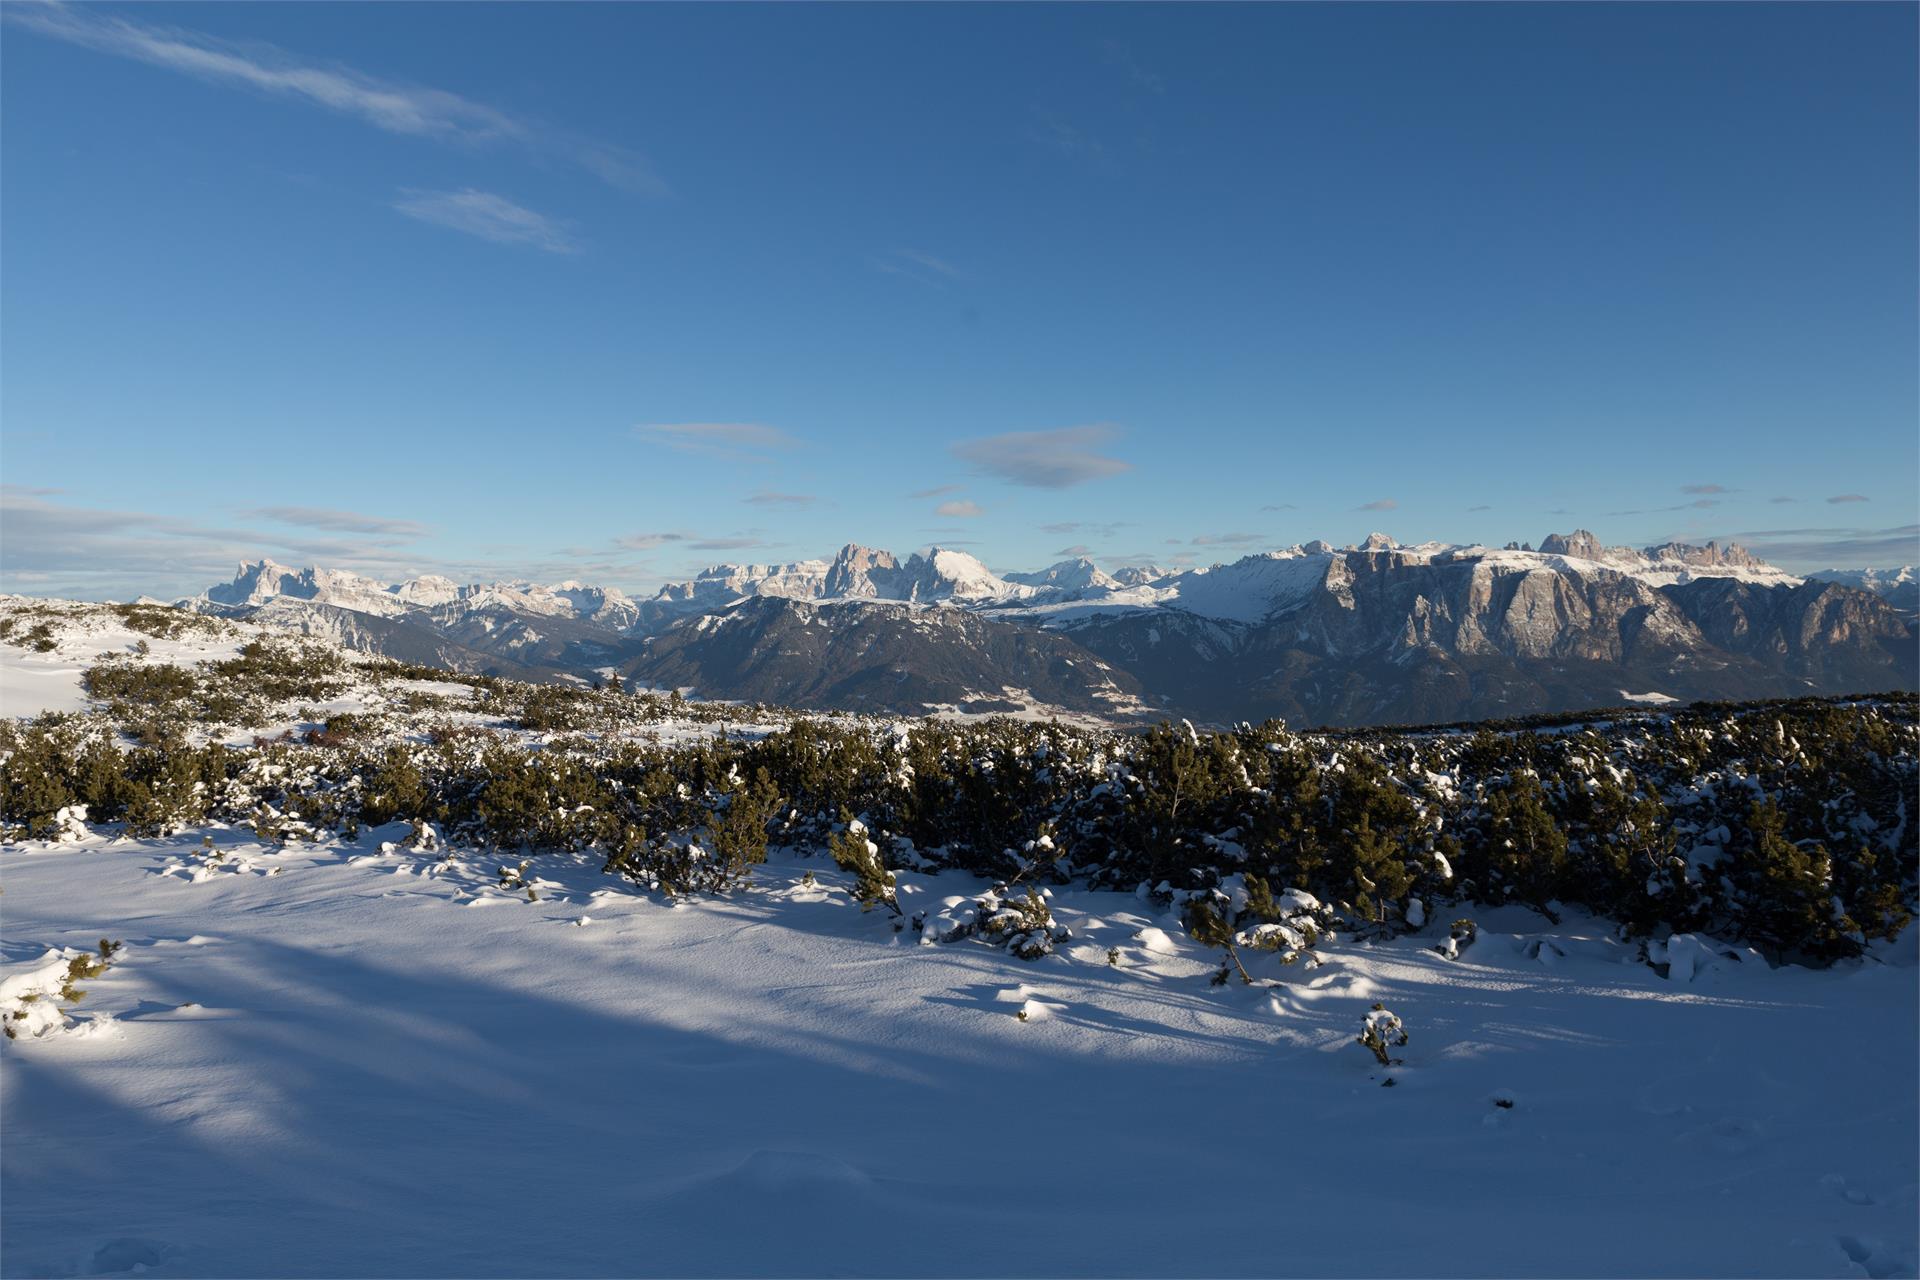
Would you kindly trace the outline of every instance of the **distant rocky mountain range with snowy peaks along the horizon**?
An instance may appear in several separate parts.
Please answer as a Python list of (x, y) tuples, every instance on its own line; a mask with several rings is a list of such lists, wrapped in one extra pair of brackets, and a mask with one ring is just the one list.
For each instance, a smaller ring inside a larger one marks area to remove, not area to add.
[(259, 560), (182, 604), (355, 629), (361, 645), (459, 670), (612, 670), (716, 699), (1411, 723), (1910, 689), (1920, 658), (1901, 589), (1910, 572), (1799, 578), (1738, 545), (1605, 547), (1574, 530), (1538, 549), (1373, 533), (1117, 574), (1087, 558), (995, 574), (964, 551), (902, 560), (849, 543), (820, 560), (718, 564), (643, 599)]

